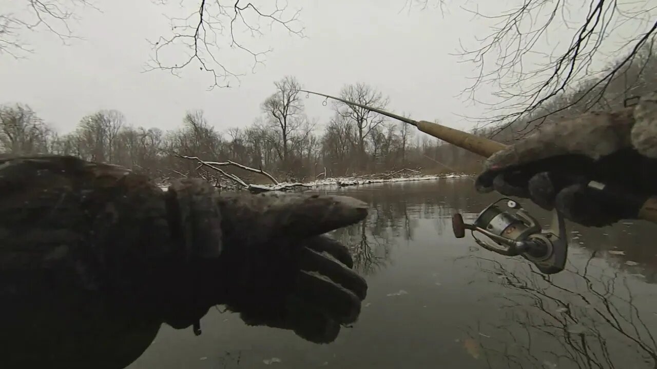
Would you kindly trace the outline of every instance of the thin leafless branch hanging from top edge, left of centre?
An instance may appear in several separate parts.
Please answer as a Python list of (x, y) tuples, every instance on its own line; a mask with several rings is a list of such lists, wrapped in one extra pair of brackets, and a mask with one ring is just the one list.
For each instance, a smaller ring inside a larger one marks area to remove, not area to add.
[[(160, 0), (168, 3), (168, 0)], [(220, 60), (219, 54), (225, 54), (227, 49), (238, 49), (248, 54), (252, 60), (251, 72), (255, 72), (258, 64), (263, 64), (265, 55), (271, 49), (254, 51), (239, 39), (238, 33), (247, 32), (251, 37), (260, 37), (261, 22), (268, 22), (270, 30), (273, 26), (283, 28), (288, 33), (305, 37), (304, 28), (299, 26), (298, 16), (300, 9), (288, 15), (288, 5), (281, 5), (281, 1), (267, 1), (267, 5), (256, 6), (252, 2), (244, 3), (237, 0), (231, 5), (221, 0), (200, 0), (198, 8), (184, 18), (170, 18), (172, 35), (160, 36), (156, 41), (150, 41), (153, 47), (153, 56), (145, 72), (152, 70), (167, 70), (174, 76), (191, 64), (199, 66), (200, 70), (208, 72), (213, 79), (210, 89), (215, 87), (230, 87), (231, 81), (240, 82), (244, 73), (238, 73)], [(263, 9), (269, 9), (265, 11)], [(241, 29), (240, 29), (241, 28)], [(223, 35), (227, 35), (229, 42), (219, 46)], [(181, 49), (178, 49), (181, 48)], [(179, 51), (187, 54), (178, 60)], [(173, 60), (167, 53), (173, 54)]]

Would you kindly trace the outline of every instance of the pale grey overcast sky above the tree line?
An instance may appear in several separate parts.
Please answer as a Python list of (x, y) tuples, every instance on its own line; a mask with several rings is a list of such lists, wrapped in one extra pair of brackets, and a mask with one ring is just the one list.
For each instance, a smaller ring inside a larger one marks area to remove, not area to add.
[[(24, 9), (17, 7), (24, 3), (0, 0), (0, 9)], [(82, 116), (99, 109), (117, 109), (132, 125), (164, 130), (179, 127), (186, 110), (202, 109), (210, 123), (223, 130), (252, 123), (260, 115), (260, 103), (274, 92), (273, 82), (292, 75), (304, 87), (329, 95), (337, 95), (346, 83), (369, 83), (390, 97), (390, 110), (415, 119), (440, 119), (451, 127), (471, 125), (456, 114), (480, 112), (457, 96), (472, 83), (467, 77), (474, 66), (459, 64), (459, 58), (450, 55), (458, 51), (459, 39), (473, 45), (476, 35), (489, 33), (486, 24), (459, 9), (463, 3), (472, 8), (476, 1), (448, 2), (443, 14), (436, 8), (409, 11), (405, 0), (290, 0), (290, 9), (303, 5), (300, 19), (307, 38), (280, 29), (263, 39), (240, 36), (254, 50), (274, 50), (256, 74), (241, 77), (240, 85), (214, 91), (207, 91), (211, 76), (198, 66), (187, 68), (182, 77), (141, 73), (151, 53), (147, 39), (171, 34), (164, 14), (187, 16), (193, 11), (173, 3), (176, 6), (163, 7), (152, 0), (97, 0), (102, 13), (78, 13), (81, 20), (72, 28), (85, 40), (70, 46), (48, 32), (25, 34), (35, 49), (28, 60), (0, 56), (0, 103), (30, 104), (59, 131), (70, 131)], [(478, 3), (487, 4), (480, 9), (489, 13), (503, 10), (493, 4), (496, 1)], [(217, 55), (237, 66), (237, 72), (250, 71), (247, 54)], [(330, 116), (330, 105), (322, 106), (322, 98), (304, 101), (309, 116), (320, 123)]]

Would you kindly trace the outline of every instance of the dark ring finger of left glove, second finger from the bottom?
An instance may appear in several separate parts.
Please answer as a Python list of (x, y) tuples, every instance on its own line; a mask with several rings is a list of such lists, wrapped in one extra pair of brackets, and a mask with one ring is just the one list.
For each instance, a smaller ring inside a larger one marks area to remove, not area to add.
[(357, 295), (317, 272), (299, 273), (295, 295), (341, 324), (355, 322), (361, 313)]

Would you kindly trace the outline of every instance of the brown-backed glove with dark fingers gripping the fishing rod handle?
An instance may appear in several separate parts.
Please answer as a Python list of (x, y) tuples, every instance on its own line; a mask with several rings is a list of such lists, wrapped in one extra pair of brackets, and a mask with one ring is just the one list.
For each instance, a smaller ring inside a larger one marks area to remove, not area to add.
[[(589, 181), (618, 196), (589, 188)], [(657, 194), (657, 93), (633, 108), (541, 127), (488, 158), (476, 188), (556, 207), (587, 227), (635, 219), (643, 200)]]

